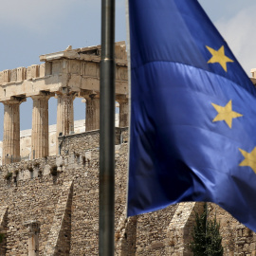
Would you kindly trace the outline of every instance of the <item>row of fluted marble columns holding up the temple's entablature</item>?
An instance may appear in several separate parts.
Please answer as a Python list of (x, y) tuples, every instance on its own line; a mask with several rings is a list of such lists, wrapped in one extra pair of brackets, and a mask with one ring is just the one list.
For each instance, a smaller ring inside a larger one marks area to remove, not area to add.
[[(33, 158), (41, 158), (49, 154), (48, 148), (48, 100), (50, 93), (42, 92), (40, 95), (32, 96), (32, 134), (31, 152)], [(74, 131), (74, 93), (59, 94), (57, 106), (56, 137), (60, 134), (69, 135)], [(100, 96), (92, 93), (84, 96), (86, 100), (86, 131), (100, 129)], [(4, 103), (4, 137), (3, 137), (3, 164), (17, 162), (20, 160), (20, 104), (26, 98), (13, 98)], [(117, 98), (119, 102), (119, 127), (128, 126), (128, 100)], [(58, 154), (58, 143), (56, 143)]]

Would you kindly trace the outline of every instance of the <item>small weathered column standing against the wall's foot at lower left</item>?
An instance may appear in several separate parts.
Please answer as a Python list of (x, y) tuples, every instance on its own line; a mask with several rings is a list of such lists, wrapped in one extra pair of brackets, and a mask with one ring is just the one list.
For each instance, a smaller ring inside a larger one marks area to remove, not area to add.
[(39, 255), (39, 233), (40, 233), (40, 222), (39, 221), (28, 221), (24, 224), (28, 229), (28, 256)]

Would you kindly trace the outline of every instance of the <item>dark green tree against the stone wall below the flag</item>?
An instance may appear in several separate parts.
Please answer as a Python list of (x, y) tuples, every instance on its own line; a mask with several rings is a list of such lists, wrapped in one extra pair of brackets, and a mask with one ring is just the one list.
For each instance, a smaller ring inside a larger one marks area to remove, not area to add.
[(221, 241), (220, 224), (217, 223), (216, 216), (213, 220), (208, 220), (207, 204), (205, 204), (202, 214), (195, 213), (195, 225), (190, 244), (193, 255), (222, 256)]

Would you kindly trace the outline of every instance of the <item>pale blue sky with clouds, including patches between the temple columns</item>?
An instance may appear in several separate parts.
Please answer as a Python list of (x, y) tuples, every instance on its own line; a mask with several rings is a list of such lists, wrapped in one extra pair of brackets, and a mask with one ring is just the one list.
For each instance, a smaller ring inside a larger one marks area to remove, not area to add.
[[(247, 75), (256, 67), (255, 0), (199, 0), (228, 42)], [(101, 0), (1, 1), (0, 70), (40, 64), (39, 56), (101, 45)], [(125, 0), (116, 0), (116, 42), (126, 41)], [(49, 100), (49, 124), (56, 123), (57, 100)], [(0, 103), (0, 140), (4, 106)], [(31, 128), (32, 101), (20, 107), (21, 130)], [(84, 119), (85, 105), (74, 101), (75, 119)]]

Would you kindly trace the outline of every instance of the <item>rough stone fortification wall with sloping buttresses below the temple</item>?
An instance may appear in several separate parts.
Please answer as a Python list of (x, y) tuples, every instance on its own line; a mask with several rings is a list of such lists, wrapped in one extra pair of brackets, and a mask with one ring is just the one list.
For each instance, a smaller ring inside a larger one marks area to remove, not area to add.
[[(192, 255), (194, 212), (201, 203), (126, 218), (127, 128), (116, 128), (116, 255)], [(27, 255), (40, 222), (39, 255), (98, 255), (99, 131), (59, 137), (61, 155), (0, 169), (1, 255)], [(10, 173), (12, 176), (10, 176)], [(221, 224), (224, 255), (255, 255), (255, 234), (225, 210), (209, 204)]]

